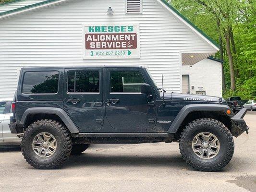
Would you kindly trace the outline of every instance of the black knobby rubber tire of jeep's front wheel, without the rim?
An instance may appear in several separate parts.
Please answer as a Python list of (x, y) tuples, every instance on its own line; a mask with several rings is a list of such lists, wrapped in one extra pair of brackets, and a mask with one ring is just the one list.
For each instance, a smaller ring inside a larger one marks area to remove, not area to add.
[[(219, 153), (211, 159), (196, 156), (192, 149), (192, 141), (200, 132), (210, 132), (219, 140)], [(180, 135), (179, 146), (185, 162), (199, 171), (218, 171), (224, 168), (234, 153), (234, 141), (230, 130), (218, 120), (207, 118), (190, 122)]]

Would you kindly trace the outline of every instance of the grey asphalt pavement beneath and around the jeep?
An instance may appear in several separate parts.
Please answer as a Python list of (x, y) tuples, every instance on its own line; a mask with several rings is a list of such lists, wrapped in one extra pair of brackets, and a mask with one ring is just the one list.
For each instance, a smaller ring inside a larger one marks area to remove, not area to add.
[(0, 192), (256, 192), (256, 111), (249, 134), (219, 172), (200, 172), (182, 159), (178, 143), (94, 144), (62, 168), (37, 170), (18, 148), (0, 148)]

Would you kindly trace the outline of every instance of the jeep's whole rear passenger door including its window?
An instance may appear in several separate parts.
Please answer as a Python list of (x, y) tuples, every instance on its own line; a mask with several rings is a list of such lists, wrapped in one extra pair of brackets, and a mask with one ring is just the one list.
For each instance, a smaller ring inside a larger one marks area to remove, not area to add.
[(103, 126), (101, 68), (65, 70), (63, 105), (80, 132), (93, 132)]

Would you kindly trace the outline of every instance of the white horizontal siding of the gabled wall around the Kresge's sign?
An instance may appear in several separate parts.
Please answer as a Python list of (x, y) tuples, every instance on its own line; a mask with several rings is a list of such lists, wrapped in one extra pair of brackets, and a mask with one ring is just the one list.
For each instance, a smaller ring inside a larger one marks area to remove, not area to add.
[[(107, 15), (110, 7), (113, 16)], [(83, 60), (82, 24), (140, 23), (140, 59)], [(156, 0), (143, 14), (125, 14), (125, 0), (72, 0), (0, 20), (0, 97), (16, 89), (17, 69), (29, 66), (143, 65), (167, 91), (181, 92), (180, 51), (216, 52)]]

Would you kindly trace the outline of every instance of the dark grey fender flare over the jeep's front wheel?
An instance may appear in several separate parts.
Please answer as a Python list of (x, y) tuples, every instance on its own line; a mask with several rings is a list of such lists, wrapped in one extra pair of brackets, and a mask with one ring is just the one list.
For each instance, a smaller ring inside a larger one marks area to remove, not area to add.
[[(183, 120), (187, 117), (187, 115), (193, 111), (218, 111), (224, 112), (227, 114), (227, 110), (231, 110), (231, 108), (227, 105), (219, 105), (219, 104), (190, 104), (184, 106), (176, 118), (172, 121), (171, 126), (168, 129), (168, 133), (176, 133), (180, 128)], [(231, 110), (232, 111), (232, 110)], [(231, 113), (227, 116), (233, 116)]]

